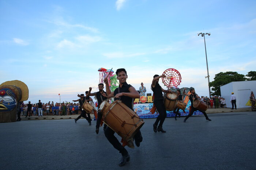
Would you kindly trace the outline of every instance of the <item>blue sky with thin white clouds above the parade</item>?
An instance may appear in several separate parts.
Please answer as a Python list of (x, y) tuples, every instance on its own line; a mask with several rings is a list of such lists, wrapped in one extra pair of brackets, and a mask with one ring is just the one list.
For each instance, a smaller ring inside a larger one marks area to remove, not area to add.
[[(1, 0), (0, 83), (25, 82), (29, 101), (78, 99), (96, 92), (98, 68), (127, 70), (147, 93), (155, 74), (174, 68), (178, 88), (208, 96), (219, 72), (247, 74), (256, 65), (256, 1)], [(160, 80), (160, 85), (163, 86)]]

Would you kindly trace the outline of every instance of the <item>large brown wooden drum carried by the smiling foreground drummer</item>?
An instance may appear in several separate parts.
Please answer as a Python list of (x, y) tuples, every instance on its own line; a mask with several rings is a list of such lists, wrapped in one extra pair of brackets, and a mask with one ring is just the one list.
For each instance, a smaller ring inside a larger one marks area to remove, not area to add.
[(127, 142), (133, 140), (133, 136), (144, 124), (144, 121), (120, 100), (114, 101), (106, 110), (102, 116), (104, 123)]

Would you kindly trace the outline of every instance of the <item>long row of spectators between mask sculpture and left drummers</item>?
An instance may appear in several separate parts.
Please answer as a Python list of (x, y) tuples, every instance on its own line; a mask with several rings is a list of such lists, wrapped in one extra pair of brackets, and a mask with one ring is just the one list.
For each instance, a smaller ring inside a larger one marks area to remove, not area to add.
[[(39, 106), (39, 107), (38, 107)], [(40, 108), (42, 107), (42, 108)], [(42, 110), (42, 114), (40, 113)], [(20, 115), (21, 116), (64, 116), (64, 115), (77, 115), (80, 113), (80, 105), (79, 103), (36, 103), (28, 104), (22, 103), (20, 105)]]

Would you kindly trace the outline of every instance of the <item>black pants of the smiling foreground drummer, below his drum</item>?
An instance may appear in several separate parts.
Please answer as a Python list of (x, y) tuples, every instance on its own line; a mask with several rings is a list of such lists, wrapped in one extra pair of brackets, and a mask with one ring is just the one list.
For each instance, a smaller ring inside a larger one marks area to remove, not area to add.
[[(122, 146), (122, 144), (118, 141), (116, 136), (114, 136), (114, 131), (107, 127), (105, 130), (105, 136), (108, 139), (108, 141), (113, 145), (114, 148), (116, 148), (119, 153), (121, 153), (123, 156), (128, 154), (128, 151)], [(134, 140), (139, 140), (141, 136), (140, 130), (134, 135)]]

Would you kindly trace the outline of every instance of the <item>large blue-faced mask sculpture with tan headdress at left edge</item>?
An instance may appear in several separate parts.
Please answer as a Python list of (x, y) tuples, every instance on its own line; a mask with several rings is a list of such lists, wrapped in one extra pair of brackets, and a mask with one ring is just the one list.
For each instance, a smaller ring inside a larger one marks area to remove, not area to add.
[(0, 85), (0, 123), (16, 121), (20, 102), (29, 98), (29, 89), (22, 81), (7, 81)]

